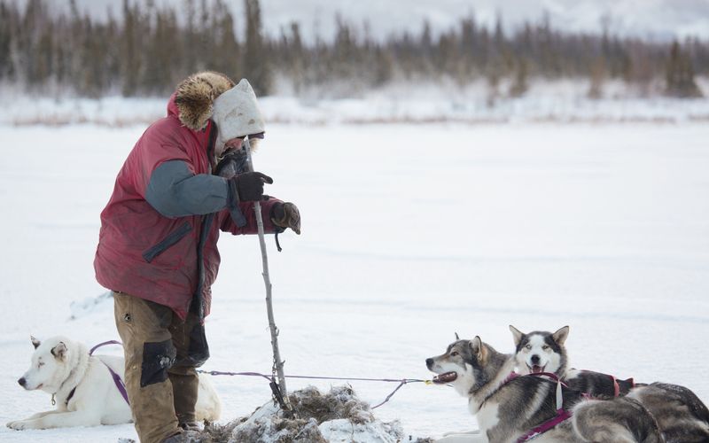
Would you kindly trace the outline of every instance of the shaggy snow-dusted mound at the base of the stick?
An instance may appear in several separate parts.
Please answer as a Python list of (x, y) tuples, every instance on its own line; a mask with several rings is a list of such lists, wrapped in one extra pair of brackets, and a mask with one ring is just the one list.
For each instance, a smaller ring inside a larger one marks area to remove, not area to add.
[(350, 386), (334, 386), (322, 393), (313, 386), (292, 392), (294, 417), (284, 416), (273, 402), (252, 416), (226, 425), (208, 425), (203, 443), (397, 443), (404, 440), (398, 421), (383, 423), (359, 400)]

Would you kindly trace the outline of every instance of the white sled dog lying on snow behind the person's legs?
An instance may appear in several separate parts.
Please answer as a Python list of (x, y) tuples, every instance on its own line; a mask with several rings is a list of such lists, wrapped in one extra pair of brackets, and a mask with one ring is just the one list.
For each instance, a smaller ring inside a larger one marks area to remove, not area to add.
[[(27, 391), (51, 393), (57, 408), (10, 422), (7, 427), (23, 430), (130, 423), (130, 407), (108, 369), (122, 380), (123, 357), (90, 355), (87, 346), (61, 336), (41, 343), (33, 337), (32, 344), (32, 366), (18, 383)], [(200, 375), (197, 419), (215, 421), (221, 411), (214, 387)]]

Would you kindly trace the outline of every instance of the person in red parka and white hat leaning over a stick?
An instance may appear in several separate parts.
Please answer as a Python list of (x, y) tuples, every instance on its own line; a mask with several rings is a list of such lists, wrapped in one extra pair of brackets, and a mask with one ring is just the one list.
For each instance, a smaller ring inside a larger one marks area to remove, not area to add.
[(256, 233), (253, 201), (261, 200), (267, 233), (300, 234), (298, 208), (263, 195), (269, 176), (214, 174), (224, 154), (263, 132), (247, 81), (191, 75), (170, 97), (168, 116), (129, 153), (101, 213), (94, 268), (113, 291), (126, 389), (144, 443), (189, 441), (196, 428), (196, 368), (209, 357), (204, 317), (220, 230)]

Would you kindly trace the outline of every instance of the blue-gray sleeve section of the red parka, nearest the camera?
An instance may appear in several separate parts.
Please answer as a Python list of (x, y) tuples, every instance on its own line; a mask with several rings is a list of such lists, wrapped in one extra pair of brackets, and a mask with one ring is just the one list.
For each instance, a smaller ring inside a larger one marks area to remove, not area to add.
[(228, 187), (222, 177), (194, 175), (183, 160), (169, 160), (152, 171), (145, 199), (170, 218), (211, 214), (227, 206)]

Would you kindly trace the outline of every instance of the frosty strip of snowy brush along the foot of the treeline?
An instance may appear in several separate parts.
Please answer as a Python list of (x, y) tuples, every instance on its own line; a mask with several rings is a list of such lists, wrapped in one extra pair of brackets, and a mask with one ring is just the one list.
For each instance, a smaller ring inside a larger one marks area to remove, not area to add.
[[(709, 78), (698, 77), (700, 89), (709, 94)], [(367, 89), (356, 82), (317, 85), (296, 93), (280, 81), (277, 94), (261, 97), (261, 110), (271, 122), (296, 125), (383, 124), (456, 122), (650, 122), (709, 121), (709, 100), (662, 97), (664, 83), (648, 85), (651, 97), (624, 82), (604, 82), (599, 99), (588, 98), (588, 82), (535, 80), (524, 97), (510, 98), (510, 80), (493, 94), (484, 80), (459, 86), (452, 82), (392, 82)], [(165, 114), (166, 99), (101, 99), (28, 97), (10, 85), (0, 85), (0, 124), (62, 126), (95, 123), (123, 128), (147, 125)]]

